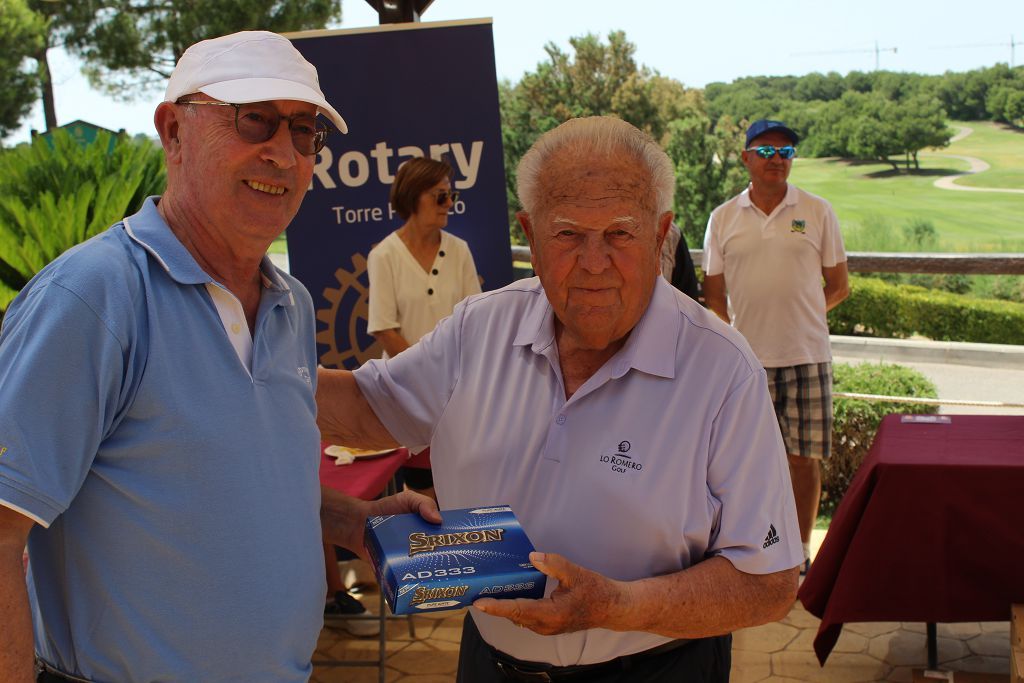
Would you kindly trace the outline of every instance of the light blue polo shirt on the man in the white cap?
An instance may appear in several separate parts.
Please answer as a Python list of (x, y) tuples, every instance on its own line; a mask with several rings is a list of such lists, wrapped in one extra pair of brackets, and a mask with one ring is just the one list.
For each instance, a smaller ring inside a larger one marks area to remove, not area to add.
[(155, 199), (8, 309), (0, 504), (38, 522), (36, 650), (57, 668), (308, 679), (326, 590), (312, 303), (262, 268), (251, 371)]

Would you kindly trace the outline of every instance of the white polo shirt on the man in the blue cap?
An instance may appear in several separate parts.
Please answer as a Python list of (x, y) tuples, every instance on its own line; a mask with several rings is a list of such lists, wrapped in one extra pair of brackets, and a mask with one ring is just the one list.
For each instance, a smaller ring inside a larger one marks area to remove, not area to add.
[(750, 187), (711, 214), (701, 267), (725, 273), (733, 325), (765, 368), (831, 360), (821, 268), (846, 261), (831, 205), (790, 185), (770, 215)]

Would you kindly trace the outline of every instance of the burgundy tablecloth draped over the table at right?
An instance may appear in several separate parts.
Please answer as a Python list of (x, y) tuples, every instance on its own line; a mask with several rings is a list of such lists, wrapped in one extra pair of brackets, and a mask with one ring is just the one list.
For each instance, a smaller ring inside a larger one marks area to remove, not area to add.
[(1024, 601), (1024, 417), (890, 415), (799, 597), (824, 665), (846, 622), (1010, 618)]

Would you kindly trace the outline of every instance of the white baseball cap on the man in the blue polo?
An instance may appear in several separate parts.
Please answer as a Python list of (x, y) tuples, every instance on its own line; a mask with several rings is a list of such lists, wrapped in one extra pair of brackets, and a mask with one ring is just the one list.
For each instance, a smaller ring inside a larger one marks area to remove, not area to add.
[(338, 130), (348, 132), (345, 120), (319, 89), (316, 68), (290, 40), (269, 31), (241, 31), (185, 50), (167, 83), (164, 101), (194, 92), (234, 104), (269, 99), (309, 102)]

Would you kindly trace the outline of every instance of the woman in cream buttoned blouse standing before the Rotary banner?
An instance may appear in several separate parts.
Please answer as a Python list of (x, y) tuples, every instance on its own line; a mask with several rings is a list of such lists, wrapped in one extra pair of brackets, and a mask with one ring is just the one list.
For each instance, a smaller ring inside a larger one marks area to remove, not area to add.
[[(406, 222), (370, 251), (367, 264), (367, 331), (384, 347), (385, 356), (409, 348), (457, 303), (480, 293), (469, 245), (442, 229), (459, 199), (451, 177), (447, 163), (417, 158), (401, 165), (391, 185), (391, 206)], [(421, 463), (429, 462), (429, 453), (417, 456)], [(402, 476), (410, 488), (433, 496), (429, 469), (403, 467)]]

